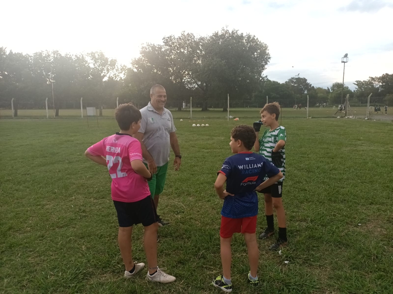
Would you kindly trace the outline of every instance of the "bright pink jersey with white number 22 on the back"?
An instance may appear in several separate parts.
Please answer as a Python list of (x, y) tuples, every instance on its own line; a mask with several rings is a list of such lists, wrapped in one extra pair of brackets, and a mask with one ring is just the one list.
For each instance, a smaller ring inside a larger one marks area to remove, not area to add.
[(136, 202), (150, 195), (147, 180), (131, 167), (131, 161), (142, 160), (142, 148), (137, 139), (128, 134), (116, 133), (89, 147), (87, 151), (107, 159), (113, 200)]

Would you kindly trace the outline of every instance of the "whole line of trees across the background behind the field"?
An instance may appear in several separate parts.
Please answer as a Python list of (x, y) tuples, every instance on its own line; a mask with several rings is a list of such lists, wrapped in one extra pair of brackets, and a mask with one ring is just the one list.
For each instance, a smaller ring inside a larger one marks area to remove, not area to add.
[[(23, 54), (1, 47), (0, 107), (6, 107), (14, 98), (16, 109), (42, 108), (43, 98), (52, 98), (53, 89), (56, 116), (59, 109), (78, 108), (81, 97), (84, 105), (95, 106), (102, 114), (103, 107), (115, 107), (116, 98), (120, 103), (146, 105), (150, 87), (156, 83), (165, 86), (170, 97), (168, 106), (179, 110), (183, 101), (193, 97), (193, 105), (202, 110), (214, 107), (226, 111), (227, 94), (234, 107), (260, 107), (266, 96), (283, 107), (295, 102), (305, 105), (307, 96), (310, 105), (341, 102), (341, 83), (325, 89), (299, 76), (284, 83), (272, 81), (263, 75), (269, 61), (265, 43), (254, 35), (227, 28), (209, 36), (182, 32), (164, 37), (161, 44), (148, 43), (129, 67), (101, 51)], [(370, 93), (383, 101), (393, 94), (393, 74), (354, 84), (355, 91), (348, 86), (343, 89), (343, 96), (349, 94), (354, 103), (366, 103)]]

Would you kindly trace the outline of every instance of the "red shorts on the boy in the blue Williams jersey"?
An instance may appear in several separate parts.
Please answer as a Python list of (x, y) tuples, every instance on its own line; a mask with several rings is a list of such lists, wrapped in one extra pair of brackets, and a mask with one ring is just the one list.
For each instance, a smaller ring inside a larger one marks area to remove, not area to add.
[(220, 237), (230, 238), (233, 233), (255, 234), (256, 216), (241, 219), (230, 219), (221, 216)]

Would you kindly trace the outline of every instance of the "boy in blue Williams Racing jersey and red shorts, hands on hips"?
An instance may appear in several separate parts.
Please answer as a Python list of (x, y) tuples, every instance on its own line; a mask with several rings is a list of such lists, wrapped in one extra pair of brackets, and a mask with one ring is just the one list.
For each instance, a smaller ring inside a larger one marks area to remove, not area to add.
[[(279, 169), (269, 160), (250, 151), (255, 139), (256, 135), (251, 126), (238, 125), (232, 129), (229, 146), (235, 155), (225, 159), (214, 184), (218, 196), (224, 199), (224, 205), (220, 229), (223, 275), (213, 280), (213, 285), (227, 293), (232, 292), (230, 244), (233, 233), (242, 233), (247, 244), (250, 262), (248, 282), (252, 285), (259, 283), (259, 251), (255, 236), (258, 197), (255, 190), (263, 190), (282, 177)], [(263, 181), (265, 176), (269, 178)]]

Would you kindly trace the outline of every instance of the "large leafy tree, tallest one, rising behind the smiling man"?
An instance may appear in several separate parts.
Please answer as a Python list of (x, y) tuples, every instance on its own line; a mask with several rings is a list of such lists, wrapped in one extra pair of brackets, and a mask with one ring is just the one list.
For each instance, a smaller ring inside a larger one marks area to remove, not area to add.
[(198, 88), (203, 94), (202, 110), (207, 110), (209, 99), (224, 100), (226, 94), (251, 98), (270, 60), (266, 44), (255, 36), (225, 28), (208, 37), (185, 32), (168, 36), (163, 45), (147, 44), (140, 54), (133, 62), (137, 73), (149, 75), (152, 81), (169, 79), (169, 88), (179, 93), (179, 103)]

